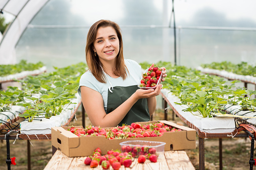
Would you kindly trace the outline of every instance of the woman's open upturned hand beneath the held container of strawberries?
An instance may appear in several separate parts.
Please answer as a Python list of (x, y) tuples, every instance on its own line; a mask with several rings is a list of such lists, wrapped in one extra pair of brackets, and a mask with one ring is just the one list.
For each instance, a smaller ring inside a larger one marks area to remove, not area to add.
[(155, 97), (160, 94), (161, 91), (161, 85), (157, 85), (155, 90), (154, 89), (138, 89), (136, 92), (133, 94), (135, 97), (139, 100), (141, 98), (149, 98), (149, 97)]

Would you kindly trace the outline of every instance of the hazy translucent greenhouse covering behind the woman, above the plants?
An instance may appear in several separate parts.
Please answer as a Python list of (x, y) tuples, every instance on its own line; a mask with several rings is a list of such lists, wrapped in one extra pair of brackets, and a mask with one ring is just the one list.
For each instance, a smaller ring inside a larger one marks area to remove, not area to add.
[[(174, 1), (177, 64), (196, 67), (217, 61), (256, 63), (256, 2)], [(47, 68), (85, 62), (86, 36), (100, 19), (117, 22), (125, 58), (174, 62), (172, 0), (1, 0), (12, 16), (0, 35), (0, 64), (22, 59)]]

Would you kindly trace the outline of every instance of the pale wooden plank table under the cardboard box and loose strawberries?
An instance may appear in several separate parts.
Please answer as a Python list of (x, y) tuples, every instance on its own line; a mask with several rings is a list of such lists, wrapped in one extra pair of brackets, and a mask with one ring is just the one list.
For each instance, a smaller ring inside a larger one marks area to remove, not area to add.
[[(96, 168), (91, 168), (89, 165), (84, 164), (84, 157), (68, 157), (60, 150), (57, 150), (48, 164), (44, 169), (103, 169), (102, 166), (97, 166)], [(110, 166), (110, 170), (113, 169)], [(138, 163), (137, 158), (135, 158), (130, 166), (130, 168), (125, 168), (121, 165), (120, 169), (152, 169), (152, 170), (164, 170), (164, 169), (195, 169), (187, 153), (184, 150), (176, 151), (165, 151), (164, 157), (158, 159), (157, 162), (153, 163), (149, 160), (146, 160), (145, 163)]]

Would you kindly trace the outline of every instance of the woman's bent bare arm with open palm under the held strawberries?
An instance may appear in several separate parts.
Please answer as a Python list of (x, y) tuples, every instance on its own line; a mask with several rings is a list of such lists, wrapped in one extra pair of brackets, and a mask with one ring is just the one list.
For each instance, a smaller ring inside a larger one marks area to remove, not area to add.
[(117, 126), (140, 98), (150, 98), (160, 93), (160, 88), (155, 90), (138, 89), (124, 103), (115, 110), (106, 114), (101, 94), (89, 87), (81, 86), (82, 104), (94, 126), (113, 127)]

